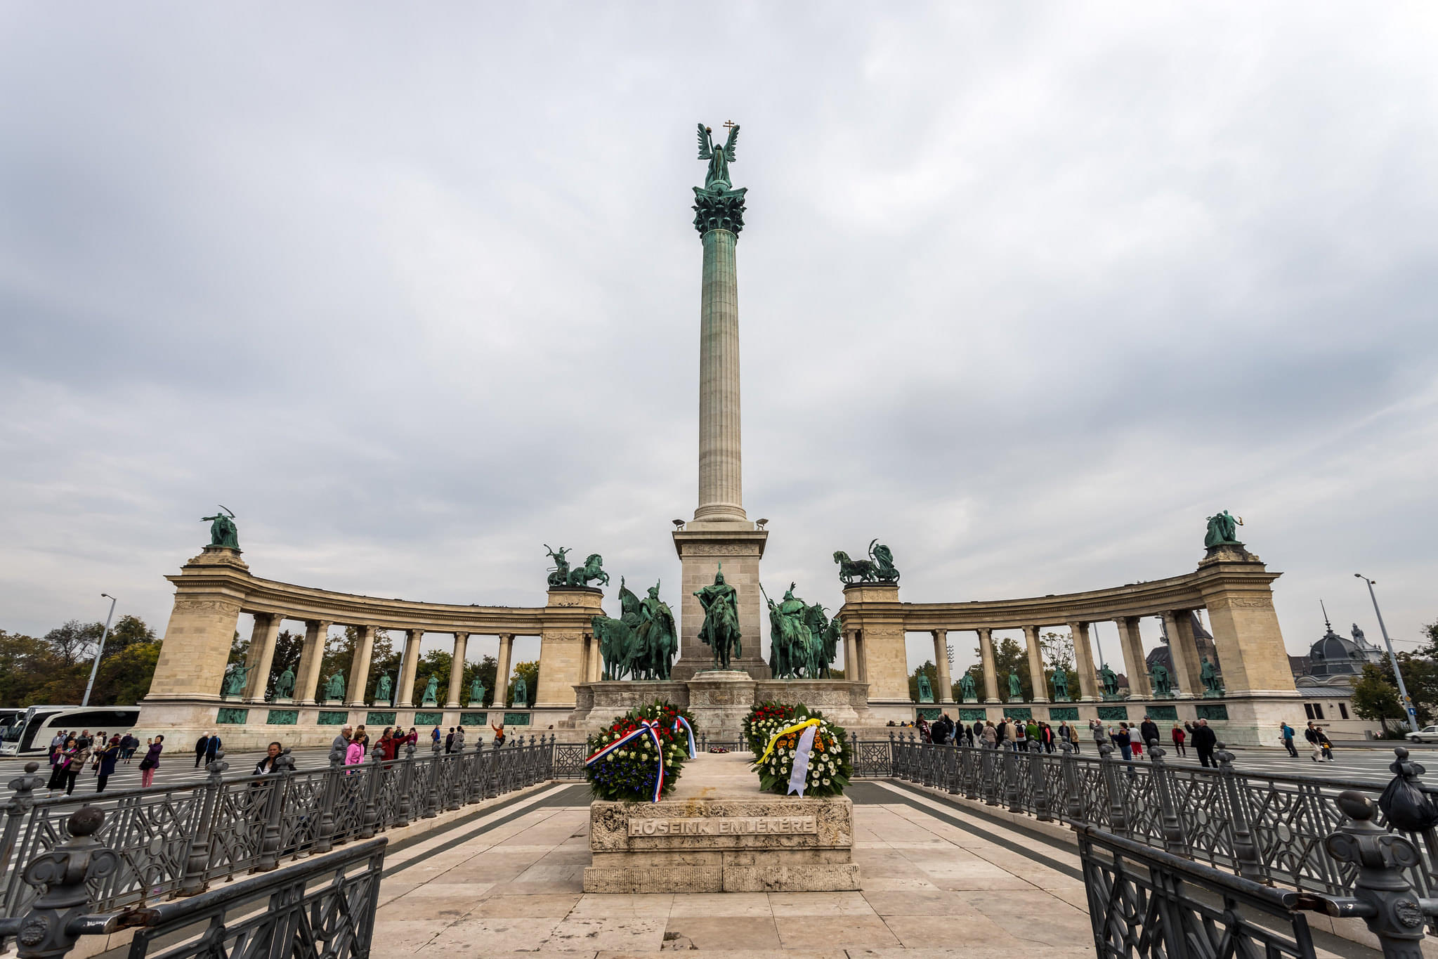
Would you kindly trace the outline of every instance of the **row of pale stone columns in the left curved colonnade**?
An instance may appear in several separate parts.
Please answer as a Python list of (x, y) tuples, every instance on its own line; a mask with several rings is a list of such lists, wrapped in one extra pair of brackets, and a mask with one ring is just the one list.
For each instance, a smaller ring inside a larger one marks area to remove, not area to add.
[[(247, 612), (247, 610), (242, 610)], [(246, 703), (263, 703), (265, 690), (269, 687), (270, 674), (275, 671), (275, 644), (279, 640), (280, 625), (289, 620), (280, 612), (253, 612), (255, 628), (250, 634), (250, 648), (246, 666), (249, 673), (244, 683), (244, 702)], [(338, 624), (328, 620), (301, 620), (305, 624), (305, 644), (299, 654), (299, 666), (295, 670), (295, 690), (292, 700), (298, 706), (316, 706), (321, 705), (319, 697), (319, 680), (321, 666), (325, 657), (325, 641), (329, 637), (329, 630), (334, 625), (354, 625), (358, 633), (354, 659), (349, 661), (348, 669), (348, 683), (345, 690), (345, 706), (390, 706), (390, 702), (368, 702), (367, 692), (372, 693), (370, 686), (370, 667), (374, 659), (374, 640), (375, 633), (381, 627), (370, 624)], [(400, 676), (398, 689), (394, 694), (394, 706), (397, 709), (411, 709), (417, 706), (414, 702), (414, 683), (418, 677), (420, 667), (420, 643), (424, 640), (424, 634), (429, 630), (424, 628), (406, 628), (404, 633), (404, 654), (400, 660)], [(449, 677), (449, 690), (444, 694), (443, 702), (436, 702), (436, 706), (443, 706), (444, 709), (459, 709), (467, 703), (462, 703), (464, 696), (463, 682), (464, 682), (464, 664), (466, 654), (469, 650), (469, 637), (479, 635), (467, 631), (450, 633), (454, 638), (454, 646), (452, 651), (452, 666)], [(513, 633), (499, 633), (499, 657), (495, 670), (495, 705), (503, 706), (506, 690), (509, 689), (509, 670), (512, 666), (513, 656)], [(531, 690), (533, 692), (533, 690)]]

